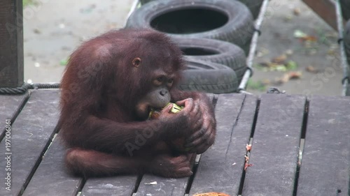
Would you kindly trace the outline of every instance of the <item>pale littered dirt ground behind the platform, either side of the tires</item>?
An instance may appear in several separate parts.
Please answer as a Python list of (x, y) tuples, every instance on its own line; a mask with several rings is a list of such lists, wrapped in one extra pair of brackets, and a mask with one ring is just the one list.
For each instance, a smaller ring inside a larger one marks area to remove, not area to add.
[[(59, 82), (69, 54), (88, 38), (122, 28), (131, 5), (132, 0), (29, 3), (24, 10), (25, 80)], [(291, 94), (341, 94), (337, 33), (302, 1), (271, 1), (261, 31), (247, 91), (260, 94), (277, 86)], [(281, 60), (293, 68), (281, 68)], [(297, 78), (288, 80), (288, 74)]]

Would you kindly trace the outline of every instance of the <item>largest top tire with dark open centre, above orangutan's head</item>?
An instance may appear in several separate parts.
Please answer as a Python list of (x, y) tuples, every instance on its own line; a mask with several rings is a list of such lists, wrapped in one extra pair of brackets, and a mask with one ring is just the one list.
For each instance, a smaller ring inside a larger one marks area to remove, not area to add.
[(251, 12), (233, 0), (151, 1), (130, 15), (128, 28), (152, 28), (174, 38), (214, 38), (248, 54), (254, 33)]

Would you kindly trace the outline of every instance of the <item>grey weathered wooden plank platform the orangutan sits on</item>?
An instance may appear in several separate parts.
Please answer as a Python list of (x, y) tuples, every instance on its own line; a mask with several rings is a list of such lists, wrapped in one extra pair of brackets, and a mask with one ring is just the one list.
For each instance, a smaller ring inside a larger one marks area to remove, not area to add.
[(349, 195), (350, 97), (216, 95), (216, 143), (192, 177), (86, 181), (64, 170), (58, 100), (55, 90), (0, 96), (0, 195)]

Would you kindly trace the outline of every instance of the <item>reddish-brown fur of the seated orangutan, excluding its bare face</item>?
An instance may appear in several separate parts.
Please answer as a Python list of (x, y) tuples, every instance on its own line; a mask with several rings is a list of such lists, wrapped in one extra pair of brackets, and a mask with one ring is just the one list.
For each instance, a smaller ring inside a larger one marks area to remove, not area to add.
[[(132, 61), (137, 57), (141, 64), (136, 67)], [(188, 153), (202, 153), (213, 144), (216, 121), (209, 98), (171, 87), (172, 102), (193, 98), (186, 100), (192, 108), (186, 109), (188, 113), (163, 114), (153, 121), (144, 121), (135, 113), (135, 105), (153, 88), (156, 74), (172, 77), (176, 86), (182, 69), (181, 50), (152, 30), (110, 31), (83, 43), (71, 54), (61, 82), (59, 126), (70, 148), (66, 154), (69, 169), (85, 176), (191, 174), (187, 153), (171, 156), (161, 141), (188, 137), (192, 147)], [(153, 135), (130, 156), (125, 144), (134, 144), (137, 135), (149, 128)], [(158, 163), (168, 169), (158, 168)]]

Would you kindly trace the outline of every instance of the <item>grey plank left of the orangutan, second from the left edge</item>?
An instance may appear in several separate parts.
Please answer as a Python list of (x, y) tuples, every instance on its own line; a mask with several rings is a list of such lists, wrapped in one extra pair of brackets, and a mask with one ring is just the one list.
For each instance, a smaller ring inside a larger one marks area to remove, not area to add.
[[(3, 158), (0, 165), (3, 168), (0, 169), (0, 179), (10, 176), (10, 190), (6, 190), (9, 184), (4, 184), (0, 195), (19, 195), (24, 190), (43, 156), (43, 149), (53, 137), (59, 114), (58, 102), (58, 91), (33, 91), (13, 122), (10, 141), (7, 141), (8, 144), (1, 141), (0, 154)], [(10, 158), (6, 159), (7, 156)], [(6, 171), (5, 165), (10, 165), (10, 171)]]

